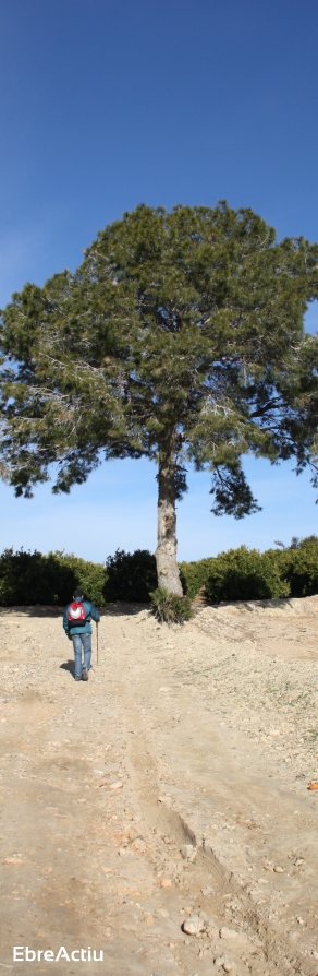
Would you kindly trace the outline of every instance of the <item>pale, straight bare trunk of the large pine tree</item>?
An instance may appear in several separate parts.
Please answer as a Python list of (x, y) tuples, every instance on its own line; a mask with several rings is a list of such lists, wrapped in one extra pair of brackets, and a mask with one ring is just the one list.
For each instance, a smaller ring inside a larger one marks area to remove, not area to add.
[(164, 453), (160, 455), (158, 474), (158, 546), (156, 562), (158, 586), (164, 586), (169, 593), (183, 596), (176, 564), (175, 538), (175, 455), (174, 438), (171, 438)]

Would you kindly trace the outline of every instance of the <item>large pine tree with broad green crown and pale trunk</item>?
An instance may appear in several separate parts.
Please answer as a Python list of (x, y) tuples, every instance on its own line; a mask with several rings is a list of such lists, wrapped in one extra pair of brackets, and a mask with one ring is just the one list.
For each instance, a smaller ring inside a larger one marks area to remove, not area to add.
[(252, 210), (139, 205), (98, 234), (78, 270), (27, 284), (2, 314), (1, 467), (16, 495), (53, 491), (102, 459), (158, 464), (160, 585), (181, 594), (175, 500), (208, 468), (212, 511), (258, 509), (248, 452), (314, 465), (318, 246), (276, 241)]

